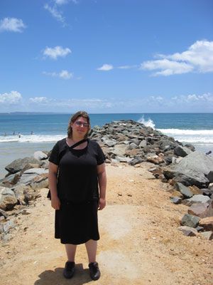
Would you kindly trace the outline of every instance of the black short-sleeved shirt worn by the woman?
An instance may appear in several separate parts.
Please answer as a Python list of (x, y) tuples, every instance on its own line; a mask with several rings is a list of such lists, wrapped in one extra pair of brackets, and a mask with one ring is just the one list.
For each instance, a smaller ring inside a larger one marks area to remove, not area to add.
[(59, 140), (49, 158), (58, 165), (58, 197), (72, 202), (99, 199), (97, 165), (104, 160), (104, 153), (94, 140), (88, 140), (83, 150), (70, 149), (65, 138)]

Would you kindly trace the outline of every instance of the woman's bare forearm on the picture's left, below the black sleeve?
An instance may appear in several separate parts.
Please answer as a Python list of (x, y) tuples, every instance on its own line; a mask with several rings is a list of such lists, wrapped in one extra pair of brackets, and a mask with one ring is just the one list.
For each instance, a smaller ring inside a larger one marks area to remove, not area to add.
[(58, 175), (58, 165), (53, 162), (49, 162), (49, 188), (51, 193), (51, 206), (54, 209), (60, 209), (60, 199), (58, 198), (57, 191), (57, 175)]

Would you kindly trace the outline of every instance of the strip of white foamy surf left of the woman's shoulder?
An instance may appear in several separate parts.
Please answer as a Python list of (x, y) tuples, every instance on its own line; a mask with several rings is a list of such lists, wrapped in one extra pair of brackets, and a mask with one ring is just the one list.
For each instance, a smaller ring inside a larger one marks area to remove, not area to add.
[(21, 138), (17, 136), (0, 136), (0, 142), (30, 142), (30, 143), (38, 143), (38, 142), (57, 142), (58, 140), (62, 140), (66, 135), (21, 135)]

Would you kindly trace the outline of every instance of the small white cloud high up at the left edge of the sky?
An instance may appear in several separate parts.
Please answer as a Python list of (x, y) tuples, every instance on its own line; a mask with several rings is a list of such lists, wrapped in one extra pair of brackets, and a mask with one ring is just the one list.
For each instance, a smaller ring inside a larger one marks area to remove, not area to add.
[(0, 31), (14, 31), (21, 33), (26, 25), (23, 24), (21, 19), (4, 18), (0, 21)]

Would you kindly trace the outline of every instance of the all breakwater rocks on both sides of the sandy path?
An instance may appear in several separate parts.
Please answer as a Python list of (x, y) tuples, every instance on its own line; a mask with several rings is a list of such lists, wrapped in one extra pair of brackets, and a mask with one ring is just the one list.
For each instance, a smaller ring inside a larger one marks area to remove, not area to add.
[[(154, 177), (170, 185), (171, 202), (188, 207), (180, 230), (187, 236), (202, 234), (212, 239), (212, 156), (133, 120), (94, 126), (89, 138), (99, 142), (107, 163), (126, 162), (133, 167), (153, 163), (150, 171)], [(15, 160), (5, 167), (9, 174), (0, 180), (1, 238), (9, 239), (10, 229), (16, 227), (11, 217), (26, 214), (26, 207), (39, 197), (39, 190), (48, 187), (49, 154), (35, 152), (34, 157)]]

